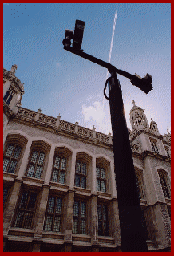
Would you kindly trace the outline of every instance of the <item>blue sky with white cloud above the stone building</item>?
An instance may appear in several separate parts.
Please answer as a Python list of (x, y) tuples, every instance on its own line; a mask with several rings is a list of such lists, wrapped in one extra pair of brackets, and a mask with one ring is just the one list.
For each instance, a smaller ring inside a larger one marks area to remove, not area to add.
[(125, 117), (131, 128), (132, 100), (144, 109), (148, 124), (160, 134), (171, 128), (170, 3), (4, 3), (3, 67), (17, 64), (24, 83), (22, 107), (80, 126), (112, 132), (109, 100), (103, 95), (107, 70), (63, 49), (65, 29), (85, 21), (82, 49), (134, 75), (152, 75), (153, 90), (144, 94), (129, 79), (121, 83)]

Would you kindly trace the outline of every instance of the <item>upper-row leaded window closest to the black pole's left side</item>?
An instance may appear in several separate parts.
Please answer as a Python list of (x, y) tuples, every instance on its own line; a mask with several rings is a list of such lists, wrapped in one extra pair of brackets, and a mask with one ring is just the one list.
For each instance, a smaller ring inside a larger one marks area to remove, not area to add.
[(106, 192), (105, 169), (97, 166), (96, 176), (97, 176), (97, 191)]

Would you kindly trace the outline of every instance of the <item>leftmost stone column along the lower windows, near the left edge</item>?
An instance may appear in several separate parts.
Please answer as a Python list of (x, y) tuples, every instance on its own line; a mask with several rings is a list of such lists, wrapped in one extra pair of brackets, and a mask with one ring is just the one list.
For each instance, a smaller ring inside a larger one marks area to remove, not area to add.
[(6, 205), (6, 209), (4, 211), (3, 230), (4, 230), (5, 236), (8, 234), (10, 230), (10, 226), (12, 225), (12, 221), (14, 220), (14, 211), (17, 205), (18, 195), (20, 193), (21, 185), (22, 185), (22, 179), (16, 178), (14, 181), (14, 186), (11, 190), (10, 200)]

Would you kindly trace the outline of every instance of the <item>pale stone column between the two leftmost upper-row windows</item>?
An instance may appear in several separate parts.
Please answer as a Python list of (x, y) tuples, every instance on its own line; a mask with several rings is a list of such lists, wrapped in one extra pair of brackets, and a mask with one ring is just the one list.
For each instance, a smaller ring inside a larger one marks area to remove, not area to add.
[(26, 144), (26, 149), (22, 157), (22, 163), (18, 171), (18, 177), (22, 178), (23, 175), (25, 175), (26, 172), (26, 166), (28, 164), (29, 156), (30, 156), (30, 148), (32, 144), (32, 139), (30, 138)]

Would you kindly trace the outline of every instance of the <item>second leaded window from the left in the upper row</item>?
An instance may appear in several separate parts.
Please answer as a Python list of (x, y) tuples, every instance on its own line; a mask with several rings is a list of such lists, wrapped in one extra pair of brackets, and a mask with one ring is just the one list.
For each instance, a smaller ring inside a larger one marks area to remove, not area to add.
[(29, 165), (26, 170), (27, 177), (42, 178), (45, 153), (39, 150), (33, 150), (30, 156)]

